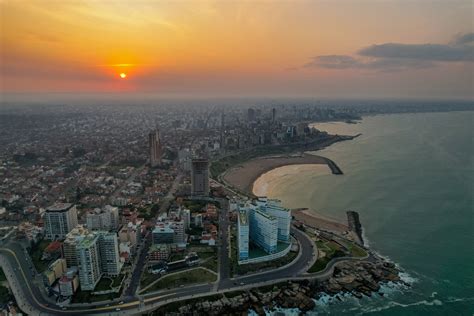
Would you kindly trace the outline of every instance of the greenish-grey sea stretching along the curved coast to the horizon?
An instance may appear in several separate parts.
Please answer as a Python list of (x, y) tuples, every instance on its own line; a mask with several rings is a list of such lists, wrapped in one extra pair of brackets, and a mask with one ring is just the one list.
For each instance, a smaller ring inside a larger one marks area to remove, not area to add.
[(257, 180), (258, 193), (290, 208), (342, 221), (347, 210), (359, 212), (369, 246), (411, 284), (388, 284), (383, 297), (323, 296), (312, 315), (474, 314), (473, 123), (474, 112), (446, 112), (315, 124), (331, 134), (362, 134), (316, 152), (344, 175), (287, 166)]

